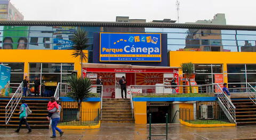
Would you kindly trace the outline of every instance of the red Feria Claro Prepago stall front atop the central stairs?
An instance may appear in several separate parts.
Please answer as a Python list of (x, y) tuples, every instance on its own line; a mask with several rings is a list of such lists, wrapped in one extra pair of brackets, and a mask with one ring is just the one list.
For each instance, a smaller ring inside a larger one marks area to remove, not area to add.
[[(178, 68), (133, 66), (118, 64), (84, 64), (83, 76), (90, 78), (93, 84), (97, 84), (97, 78), (103, 80), (103, 98), (122, 98), (119, 80), (126, 78), (127, 98), (130, 98), (130, 85), (171, 85), (171, 80), (176, 77), (179, 80)], [(134, 89), (133, 89), (134, 91)], [(137, 89), (142, 93), (142, 89)], [(145, 92), (143, 92), (145, 93)]]

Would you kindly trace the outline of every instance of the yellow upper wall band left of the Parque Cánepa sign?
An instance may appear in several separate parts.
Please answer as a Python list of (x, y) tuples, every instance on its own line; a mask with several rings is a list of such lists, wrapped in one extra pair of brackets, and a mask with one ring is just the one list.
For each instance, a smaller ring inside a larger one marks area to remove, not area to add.
[[(24, 63), (24, 76), (28, 75), (29, 63), (74, 63), (74, 69), (81, 74), (79, 58), (71, 56), (73, 50), (0, 50), (0, 61)], [(84, 51), (88, 54), (88, 51)], [(86, 62), (83, 62), (86, 63)]]

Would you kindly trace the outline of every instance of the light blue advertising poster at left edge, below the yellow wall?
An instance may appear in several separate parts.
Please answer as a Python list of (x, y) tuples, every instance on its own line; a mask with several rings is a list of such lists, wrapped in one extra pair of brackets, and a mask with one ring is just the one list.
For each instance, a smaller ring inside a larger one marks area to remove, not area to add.
[(0, 96), (9, 97), (11, 68), (0, 65)]

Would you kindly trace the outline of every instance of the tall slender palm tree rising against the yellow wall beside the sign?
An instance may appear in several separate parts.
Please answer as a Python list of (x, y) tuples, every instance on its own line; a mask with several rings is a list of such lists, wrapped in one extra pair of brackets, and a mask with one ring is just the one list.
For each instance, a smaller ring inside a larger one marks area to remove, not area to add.
[(85, 30), (78, 28), (76, 32), (74, 33), (74, 38), (71, 39), (74, 42), (73, 45), (73, 57), (77, 58), (79, 57), (81, 62), (81, 75), (83, 74), (83, 61), (87, 60), (87, 53), (85, 53), (83, 50), (88, 48), (90, 45), (89, 38), (87, 38), (87, 33)]

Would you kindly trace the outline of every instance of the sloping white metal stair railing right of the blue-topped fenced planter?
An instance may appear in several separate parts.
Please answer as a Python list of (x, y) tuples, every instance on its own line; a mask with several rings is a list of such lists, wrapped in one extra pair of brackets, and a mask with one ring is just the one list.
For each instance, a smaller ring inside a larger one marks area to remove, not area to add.
[(217, 84), (216, 87), (219, 91), (218, 103), (220, 108), (223, 110), (231, 123), (236, 123), (236, 107), (231, 102), (230, 98), (222, 91), (220, 85)]

